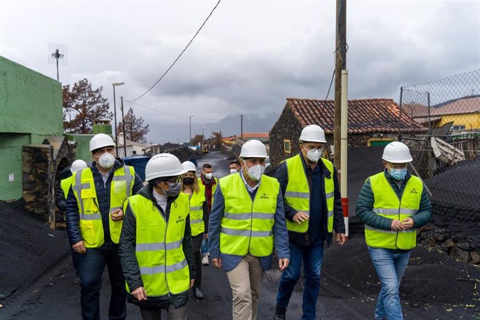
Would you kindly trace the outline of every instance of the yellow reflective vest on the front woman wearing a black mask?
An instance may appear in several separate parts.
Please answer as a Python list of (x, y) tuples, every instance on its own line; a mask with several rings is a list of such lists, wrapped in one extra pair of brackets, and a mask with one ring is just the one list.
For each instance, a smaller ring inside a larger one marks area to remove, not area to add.
[[(190, 271), (182, 241), (189, 214), (189, 195), (180, 193), (170, 205), (168, 223), (143, 195), (128, 198), (125, 211), (127, 205), (136, 216), (135, 255), (147, 297), (188, 291)], [(130, 292), (128, 285), (127, 291)]]

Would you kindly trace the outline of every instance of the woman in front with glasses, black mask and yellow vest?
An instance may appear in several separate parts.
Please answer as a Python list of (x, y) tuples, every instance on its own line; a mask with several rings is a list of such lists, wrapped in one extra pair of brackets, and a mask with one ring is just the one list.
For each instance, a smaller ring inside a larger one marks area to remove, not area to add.
[(189, 195), (180, 192), (186, 170), (173, 154), (157, 154), (145, 166), (147, 186), (124, 203), (120, 262), (128, 301), (143, 319), (186, 318), (195, 279)]

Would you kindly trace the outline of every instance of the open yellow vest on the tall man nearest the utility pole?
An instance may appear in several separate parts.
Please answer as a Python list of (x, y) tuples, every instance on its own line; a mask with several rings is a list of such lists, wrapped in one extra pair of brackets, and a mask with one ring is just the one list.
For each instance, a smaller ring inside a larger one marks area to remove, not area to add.
[[(323, 177), (323, 185), (325, 187), (325, 198), (327, 203), (327, 230), (333, 232), (333, 200), (335, 185), (333, 184), (333, 163), (327, 159), (321, 158), (323, 165), (330, 171), (330, 178)], [(287, 163), (288, 184), (285, 189), (283, 198), (285, 203), (296, 211), (305, 212), (310, 216), (310, 186), (308, 184), (307, 176), (301, 159), (301, 154), (285, 160)], [(287, 229), (294, 232), (307, 232), (308, 219), (303, 223), (298, 224), (289, 219), (287, 222)]]

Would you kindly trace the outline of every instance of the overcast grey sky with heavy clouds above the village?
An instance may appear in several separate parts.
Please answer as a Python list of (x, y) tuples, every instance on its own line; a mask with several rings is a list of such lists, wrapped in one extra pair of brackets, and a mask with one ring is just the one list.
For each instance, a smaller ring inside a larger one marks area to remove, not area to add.
[[(0, 55), (56, 79), (48, 43), (67, 45), (60, 81), (103, 86), (112, 109), (111, 83), (125, 81), (116, 88), (119, 113), (120, 95), (145, 93), (217, 1), (0, 0)], [(398, 101), (400, 86), (478, 69), (479, 3), (347, 0), (349, 99)], [(240, 113), (275, 121), (287, 97), (326, 98), (333, 51), (335, 0), (223, 0), (141, 106), (125, 111), (150, 125), (154, 143), (188, 141), (192, 114), (192, 136), (206, 125), (209, 136), (217, 119)]]

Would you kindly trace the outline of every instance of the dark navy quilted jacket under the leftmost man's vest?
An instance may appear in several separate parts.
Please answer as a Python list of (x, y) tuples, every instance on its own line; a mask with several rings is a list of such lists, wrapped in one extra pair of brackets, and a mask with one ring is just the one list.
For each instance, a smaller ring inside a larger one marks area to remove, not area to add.
[[(95, 161), (90, 163), (89, 168), (93, 173), (93, 180), (95, 182), (95, 191), (97, 191), (97, 202), (99, 206), (100, 214), (102, 214), (102, 224), (104, 226), (104, 239), (105, 241), (111, 241), (110, 238), (110, 225), (109, 225), (109, 209), (110, 209), (110, 187), (113, 178), (113, 171), (125, 166), (125, 163), (116, 159), (115, 164), (113, 165), (114, 169), (109, 173), (109, 177), (104, 183), (102, 179), (102, 173), (97, 169), (97, 164)], [(135, 173), (135, 182), (132, 194), (138, 193), (143, 187), (143, 182), (140, 177)], [(70, 191), (68, 191), (67, 196), (67, 205), (65, 213), (65, 221), (67, 222), (67, 232), (68, 239), (70, 240), (70, 245), (77, 243), (82, 240), (80, 227), (79, 227), (79, 206), (77, 204), (77, 198), (73, 193), (73, 189), (70, 186)]]

